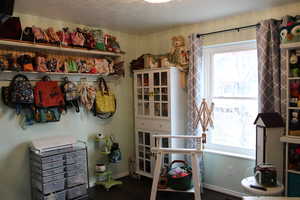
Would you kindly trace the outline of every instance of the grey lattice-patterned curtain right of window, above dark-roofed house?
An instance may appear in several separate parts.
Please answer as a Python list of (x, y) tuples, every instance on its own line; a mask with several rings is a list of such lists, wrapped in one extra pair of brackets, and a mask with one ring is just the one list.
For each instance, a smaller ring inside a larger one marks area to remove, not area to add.
[(279, 30), (290, 16), (262, 21), (256, 32), (258, 51), (259, 112), (278, 112), (286, 116), (286, 52), (280, 50)]

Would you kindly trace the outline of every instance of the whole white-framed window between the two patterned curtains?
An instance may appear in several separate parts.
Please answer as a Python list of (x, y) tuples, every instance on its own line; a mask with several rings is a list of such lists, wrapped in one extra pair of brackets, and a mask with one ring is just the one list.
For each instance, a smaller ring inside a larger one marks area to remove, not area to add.
[(205, 96), (215, 103), (207, 149), (255, 157), (258, 113), (255, 41), (204, 48)]

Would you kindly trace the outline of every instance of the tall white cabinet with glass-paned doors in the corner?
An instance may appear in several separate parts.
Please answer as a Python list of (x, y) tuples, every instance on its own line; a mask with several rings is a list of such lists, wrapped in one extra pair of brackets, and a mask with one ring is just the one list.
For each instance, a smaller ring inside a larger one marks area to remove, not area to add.
[[(152, 177), (155, 157), (153, 134), (185, 134), (186, 95), (175, 67), (134, 71), (135, 144), (137, 173)], [(179, 147), (176, 141), (164, 146)], [(165, 156), (165, 164), (171, 160)]]

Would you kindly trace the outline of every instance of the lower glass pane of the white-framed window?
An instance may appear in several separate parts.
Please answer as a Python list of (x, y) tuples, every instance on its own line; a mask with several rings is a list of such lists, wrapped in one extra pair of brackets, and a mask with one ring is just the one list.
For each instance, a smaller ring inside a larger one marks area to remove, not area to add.
[(231, 147), (255, 149), (257, 100), (213, 99), (214, 128), (210, 129), (209, 142)]

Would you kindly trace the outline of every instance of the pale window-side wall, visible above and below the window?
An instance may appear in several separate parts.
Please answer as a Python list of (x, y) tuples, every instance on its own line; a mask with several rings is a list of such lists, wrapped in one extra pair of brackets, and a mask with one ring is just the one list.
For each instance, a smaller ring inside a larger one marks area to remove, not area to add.
[[(280, 19), (284, 15), (299, 15), (300, 2), (271, 8), (259, 12), (248, 12), (237, 16), (206, 21), (198, 24), (184, 25), (166, 31), (142, 35), (138, 41), (138, 54), (161, 54), (169, 52), (171, 38), (183, 35), (186, 38), (192, 33), (207, 33), (239, 26), (257, 24), (261, 20), (275, 18)], [(255, 28), (240, 32), (226, 32), (204, 37), (204, 45), (213, 45), (256, 38)], [(240, 159), (217, 154), (205, 153), (205, 184), (211, 189), (229, 192), (239, 195), (244, 192), (240, 181), (252, 174), (255, 162), (253, 160)]]

